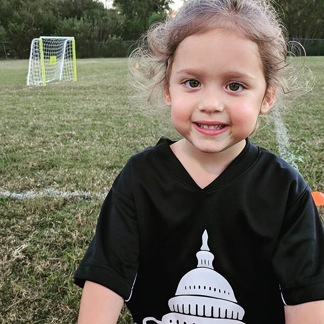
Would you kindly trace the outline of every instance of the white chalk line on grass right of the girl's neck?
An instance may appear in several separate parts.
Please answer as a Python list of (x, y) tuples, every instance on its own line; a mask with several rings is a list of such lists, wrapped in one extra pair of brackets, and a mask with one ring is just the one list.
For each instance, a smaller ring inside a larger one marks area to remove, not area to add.
[(278, 109), (273, 109), (273, 116), (279, 155), (298, 171), (296, 161), (300, 158), (298, 159), (290, 149), (287, 128), (285, 127), (284, 122), (282, 121), (280, 111)]

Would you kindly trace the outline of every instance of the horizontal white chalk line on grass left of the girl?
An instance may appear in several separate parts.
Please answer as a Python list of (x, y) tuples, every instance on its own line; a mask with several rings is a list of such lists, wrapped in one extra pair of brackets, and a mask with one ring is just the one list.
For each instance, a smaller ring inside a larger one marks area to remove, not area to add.
[(16, 199), (33, 199), (41, 197), (49, 198), (81, 198), (81, 199), (93, 199), (104, 198), (107, 193), (89, 192), (89, 191), (59, 191), (54, 189), (45, 189), (41, 191), (26, 191), (26, 192), (10, 192), (7, 190), (0, 190), (0, 197), (9, 197)]

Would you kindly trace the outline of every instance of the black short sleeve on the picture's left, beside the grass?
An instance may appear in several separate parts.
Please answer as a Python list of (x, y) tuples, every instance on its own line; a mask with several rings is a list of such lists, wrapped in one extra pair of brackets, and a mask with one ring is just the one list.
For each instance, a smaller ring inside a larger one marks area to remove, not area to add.
[(127, 300), (137, 273), (138, 251), (129, 162), (104, 200), (95, 236), (74, 273), (74, 283), (83, 288), (86, 280), (93, 281)]

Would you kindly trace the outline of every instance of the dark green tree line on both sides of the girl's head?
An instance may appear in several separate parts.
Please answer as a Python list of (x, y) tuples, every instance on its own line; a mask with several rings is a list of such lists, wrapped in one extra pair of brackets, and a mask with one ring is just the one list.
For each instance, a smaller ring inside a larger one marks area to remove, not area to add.
[[(75, 37), (78, 56), (93, 56), (93, 44), (108, 44), (115, 49), (111, 56), (120, 56), (129, 46), (123, 41), (135, 41), (153, 22), (165, 19), (171, 4), (114, 0), (106, 9), (99, 0), (0, 0), (0, 42), (13, 57), (27, 58), (32, 38), (66, 35)], [(324, 38), (324, 0), (276, 0), (275, 6), (290, 37)]]

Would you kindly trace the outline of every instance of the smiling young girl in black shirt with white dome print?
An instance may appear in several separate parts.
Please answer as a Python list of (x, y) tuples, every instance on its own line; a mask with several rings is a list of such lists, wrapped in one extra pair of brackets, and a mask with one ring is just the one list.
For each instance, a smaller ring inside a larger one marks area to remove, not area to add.
[(75, 272), (79, 323), (115, 323), (125, 300), (137, 324), (323, 324), (310, 190), (248, 139), (290, 91), (274, 9), (191, 0), (146, 39), (134, 54), (146, 101), (161, 89), (183, 138), (135, 154), (115, 179)]

